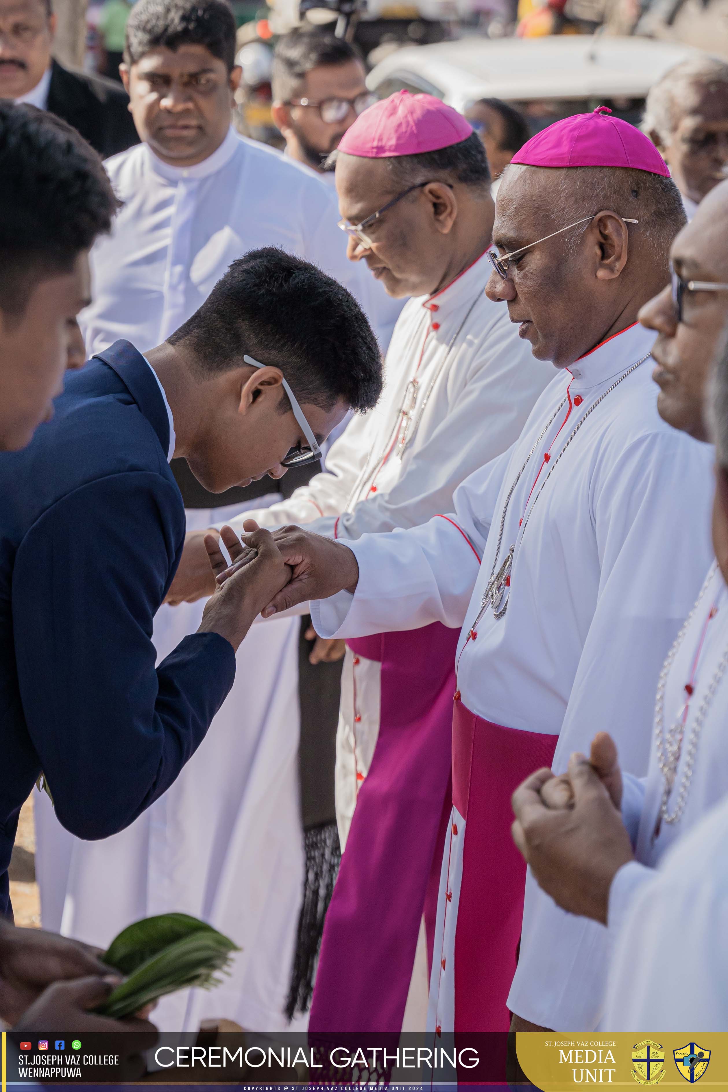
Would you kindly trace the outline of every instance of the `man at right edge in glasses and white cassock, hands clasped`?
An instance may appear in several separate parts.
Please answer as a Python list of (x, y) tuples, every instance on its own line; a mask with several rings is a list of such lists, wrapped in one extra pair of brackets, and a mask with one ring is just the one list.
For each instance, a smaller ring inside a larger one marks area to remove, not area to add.
[[(653, 359), (657, 364), (655, 379), (660, 389), (660, 416), (702, 441), (707, 441), (711, 435), (705, 414), (706, 388), (714, 371), (716, 352), (723, 343), (728, 313), (727, 233), (728, 183), (724, 183), (705, 198), (695, 218), (675, 239), (672, 285), (641, 311), (642, 322), (658, 333)], [(694, 280), (684, 280), (687, 271)], [(721, 375), (718, 369), (718, 376)], [(719, 400), (714, 401), (719, 404)], [(723, 416), (728, 420), (728, 412), (725, 415), (714, 412), (713, 416), (716, 420)], [(714, 431), (719, 435), (720, 430), (716, 426)], [(719, 485), (720, 472), (717, 480)], [(718, 488), (713, 522), (718, 557), (721, 556), (719, 536), (723, 534), (720, 499)], [(704, 527), (694, 530), (696, 543), (702, 544)], [(726, 695), (716, 672), (721, 669), (727, 626), (726, 591), (713, 567), (700, 602), (656, 681), (655, 736), (646, 783), (625, 773), (623, 791), (612, 790), (632, 844), (636, 845), (636, 863), (632, 860), (630, 839), (619, 812), (609, 804), (604, 788), (600, 790), (599, 809), (595, 808), (598, 793), (596, 797), (594, 793), (590, 797), (572, 797), (573, 810), (568, 817), (570, 831), (563, 838), (562, 831), (554, 829), (561, 817), (545, 809), (545, 804), (551, 806), (552, 794), (558, 795), (561, 791), (560, 779), (547, 780), (539, 788), (541, 773), (535, 773), (514, 797), (518, 820), (516, 841), (544, 890), (573, 915), (609, 922), (608, 929), (589, 925), (585, 933), (585, 937), (589, 937), (588, 965), (578, 960), (559, 959), (559, 952), (549, 965), (552, 992), (578, 999), (581, 1030), (595, 1030), (604, 1016), (611, 942), (619, 933), (620, 921), (631, 913), (632, 887), (654, 875), (652, 868), (675, 839), (687, 833), (725, 791), (719, 740), (723, 738)], [(703, 750), (702, 739), (711, 739), (718, 750)], [(617, 760), (613, 743), (607, 738), (594, 740), (592, 762), (605, 779), (605, 785), (611, 782)], [(589, 778), (596, 783), (596, 774), (590, 774), (585, 763), (577, 763), (577, 771), (585, 782), (584, 788), (589, 787)], [(671, 788), (665, 795), (668, 782)], [(596, 787), (599, 790), (598, 783)], [(594, 790), (594, 784), (590, 788)], [(537, 795), (532, 795), (533, 792)], [(563, 802), (556, 800), (556, 810), (562, 808)], [(545, 823), (548, 830), (544, 829)], [(537, 845), (548, 848), (541, 851)], [(571, 921), (577, 928), (576, 917)], [(633, 983), (630, 993), (635, 988)], [(642, 988), (641, 984), (636, 992)], [(646, 983), (643, 996), (649, 994), (652, 987)], [(629, 1001), (624, 1004), (629, 1008)], [(687, 1025), (696, 1026), (690, 1020), (683, 1026)], [(640, 1026), (644, 1029), (645, 1025)], [(652, 1024), (653, 1030), (660, 1026), (665, 1026), (660, 1021)]]

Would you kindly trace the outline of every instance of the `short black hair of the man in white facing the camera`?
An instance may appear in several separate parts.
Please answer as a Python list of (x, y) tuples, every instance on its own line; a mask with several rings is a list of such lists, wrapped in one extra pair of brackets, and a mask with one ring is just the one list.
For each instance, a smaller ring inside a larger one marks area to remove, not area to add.
[(123, 59), (134, 64), (151, 49), (204, 46), (235, 66), (235, 16), (225, 0), (138, 0), (127, 23)]

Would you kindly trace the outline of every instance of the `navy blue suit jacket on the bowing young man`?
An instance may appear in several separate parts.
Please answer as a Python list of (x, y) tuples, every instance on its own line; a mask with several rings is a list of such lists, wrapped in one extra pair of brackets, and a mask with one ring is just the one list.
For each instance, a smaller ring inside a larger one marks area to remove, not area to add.
[(168, 443), (155, 377), (116, 342), (0, 455), (0, 913), (40, 771), (67, 830), (114, 834), (171, 785), (232, 685), (217, 633), (155, 668), (152, 620), (184, 542)]

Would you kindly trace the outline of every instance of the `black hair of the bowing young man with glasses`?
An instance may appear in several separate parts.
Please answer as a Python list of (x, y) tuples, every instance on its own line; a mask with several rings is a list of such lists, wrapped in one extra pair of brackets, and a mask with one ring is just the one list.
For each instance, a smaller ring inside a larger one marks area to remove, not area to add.
[[(375, 405), (382, 391), (377, 339), (354, 296), (277, 247), (232, 262), (205, 302), (168, 339), (184, 342), (202, 376), (244, 367), (243, 354), (281, 368), (299, 402), (330, 410)], [(282, 412), (290, 408), (285, 393)]]

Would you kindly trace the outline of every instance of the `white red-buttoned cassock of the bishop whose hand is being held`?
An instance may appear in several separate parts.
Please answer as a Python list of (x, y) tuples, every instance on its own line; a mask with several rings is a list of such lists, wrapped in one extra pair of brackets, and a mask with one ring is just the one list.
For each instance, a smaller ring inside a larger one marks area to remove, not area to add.
[[(625, 770), (639, 774), (646, 768), (648, 727), (634, 726), (649, 725), (660, 666), (712, 556), (712, 452), (658, 416), (646, 358), (653, 341), (642, 327), (630, 327), (558, 375), (518, 441), (456, 490), (453, 515), (349, 543), (360, 572), (355, 595), (342, 592), (312, 604), (315, 628), (325, 637), (432, 621), (463, 626), (455, 715), (461, 703), (472, 719), (481, 719), (479, 725), (510, 733), (503, 762), (522, 734), (532, 741), (539, 734), (558, 735), (553, 768), (561, 771), (573, 750), (585, 750), (596, 732), (608, 731)], [(511, 544), (510, 586), (504, 583), (500, 602), (496, 596), (499, 613), (510, 597), (498, 619), (492, 609), (481, 610), (481, 600)], [(474, 748), (477, 736), (476, 731)], [(487, 790), (498, 787), (499, 773), (487, 771)], [(456, 785), (457, 763), (453, 776)], [(475, 778), (467, 790), (473, 809)], [(511, 841), (508, 806), (504, 810), (499, 852), (505, 855)], [(469, 905), (472, 935), (467, 943), (458, 935), (455, 945), (468, 870), (464, 816), (454, 809), (452, 818), (430, 1024), (443, 1031), (491, 1030), (468, 1019), (474, 1007), (476, 1018), (479, 1004), (488, 1007), (489, 983), (474, 981), (472, 970), (488, 943), (477, 934), (481, 907)], [(470, 859), (481, 850), (478, 843)], [(492, 880), (487, 869), (480, 871), (485, 906)], [(472, 898), (477, 885), (470, 876), (468, 885)], [(558, 1030), (594, 1026), (599, 1013), (589, 952), (601, 943), (599, 930), (606, 931), (558, 910), (529, 877), (509, 1008)], [(568, 996), (564, 965), (582, 971)], [(468, 985), (468, 975), (470, 993), (456, 1006), (456, 990)]]

